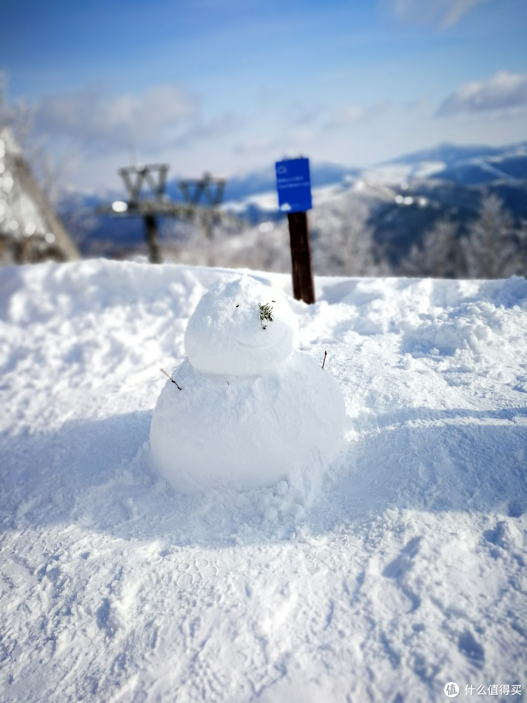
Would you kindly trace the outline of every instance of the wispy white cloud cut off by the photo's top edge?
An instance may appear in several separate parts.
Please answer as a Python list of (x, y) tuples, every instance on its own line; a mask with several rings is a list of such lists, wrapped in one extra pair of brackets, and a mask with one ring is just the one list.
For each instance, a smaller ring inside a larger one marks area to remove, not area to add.
[(382, 0), (401, 22), (453, 27), (463, 15), (490, 0)]

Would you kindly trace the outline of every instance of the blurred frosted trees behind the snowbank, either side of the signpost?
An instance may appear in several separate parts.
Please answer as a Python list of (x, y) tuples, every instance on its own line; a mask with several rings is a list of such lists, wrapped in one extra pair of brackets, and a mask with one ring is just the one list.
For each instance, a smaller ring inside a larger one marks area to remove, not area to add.
[[(319, 206), (309, 220), (313, 269), (320, 276), (527, 276), (527, 223), (515, 223), (494, 194), (483, 196), (471, 221), (437, 219), (396, 262), (386, 244), (375, 240), (367, 202), (353, 193)], [(286, 222), (269, 221), (240, 231), (218, 226), (212, 241), (188, 225), (186, 232), (174, 223), (165, 229), (165, 258), (171, 261), (290, 270)]]

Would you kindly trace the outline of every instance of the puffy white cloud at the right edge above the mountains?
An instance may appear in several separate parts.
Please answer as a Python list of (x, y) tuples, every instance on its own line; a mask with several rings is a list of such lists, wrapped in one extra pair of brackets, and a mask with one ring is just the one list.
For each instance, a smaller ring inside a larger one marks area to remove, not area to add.
[(485, 112), (527, 105), (527, 73), (498, 71), (486, 81), (462, 83), (445, 98), (438, 115)]

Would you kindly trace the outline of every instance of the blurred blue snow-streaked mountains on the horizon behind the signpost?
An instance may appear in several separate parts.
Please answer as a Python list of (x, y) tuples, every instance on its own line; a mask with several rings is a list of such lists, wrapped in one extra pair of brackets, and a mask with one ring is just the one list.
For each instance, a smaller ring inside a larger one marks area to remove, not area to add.
[[(484, 193), (499, 196), (516, 224), (527, 219), (527, 143), (500, 148), (443, 144), (367, 169), (313, 163), (311, 172), (313, 217), (318, 206), (352, 193), (360, 199), (360, 207), (367, 207), (365, 221), (392, 264), (408, 254), (440, 219), (456, 221), (463, 232), (476, 217)], [(182, 197), (177, 183), (178, 179), (169, 182), (173, 198)], [(272, 166), (230, 179), (225, 195), (223, 209), (248, 224), (278, 222), (284, 217), (278, 211)], [(86, 254), (126, 257), (143, 243), (140, 219), (95, 217), (96, 205), (117, 196), (122, 194), (108, 193), (106, 198), (70, 195), (61, 203), (63, 219)], [(348, 208), (337, 209), (345, 212)], [(321, 234), (333, 236), (327, 227)]]

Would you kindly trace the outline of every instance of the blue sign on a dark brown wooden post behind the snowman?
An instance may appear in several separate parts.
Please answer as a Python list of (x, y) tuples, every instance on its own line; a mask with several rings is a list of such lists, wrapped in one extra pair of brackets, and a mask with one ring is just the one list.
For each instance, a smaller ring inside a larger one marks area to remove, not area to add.
[(315, 285), (306, 217), (306, 210), (313, 207), (309, 160), (300, 158), (278, 161), (275, 168), (278, 206), (282, 212), (287, 212), (289, 221), (293, 295), (297, 300), (311, 304), (315, 302)]

